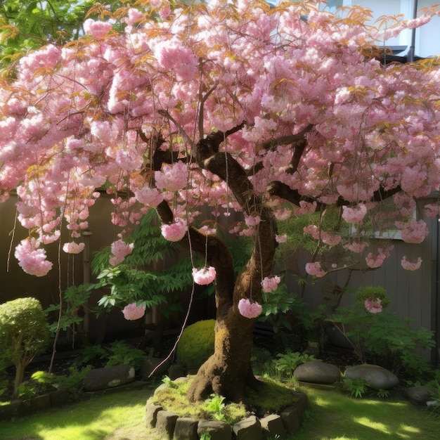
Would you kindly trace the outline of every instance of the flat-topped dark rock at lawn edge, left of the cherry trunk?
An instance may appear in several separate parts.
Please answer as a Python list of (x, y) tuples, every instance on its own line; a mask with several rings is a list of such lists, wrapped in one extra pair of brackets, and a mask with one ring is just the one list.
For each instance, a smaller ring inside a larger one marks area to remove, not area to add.
[(130, 382), (134, 382), (134, 368), (130, 365), (93, 368), (84, 379), (84, 391), (100, 391), (101, 389), (118, 387)]

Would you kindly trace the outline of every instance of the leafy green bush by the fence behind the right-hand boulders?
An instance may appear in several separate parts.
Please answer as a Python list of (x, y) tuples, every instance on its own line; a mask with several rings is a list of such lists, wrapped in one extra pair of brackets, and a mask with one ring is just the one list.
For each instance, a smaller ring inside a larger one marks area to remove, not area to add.
[(351, 342), (362, 362), (373, 358), (407, 380), (426, 380), (432, 373), (429, 362), (418, 354), (418, 347), (434, 347), (433, 332), (426, 328), (412, 330), (411, 320), (391, 311), (368, 313), (350, 307), (338, 309), (330, 320)]

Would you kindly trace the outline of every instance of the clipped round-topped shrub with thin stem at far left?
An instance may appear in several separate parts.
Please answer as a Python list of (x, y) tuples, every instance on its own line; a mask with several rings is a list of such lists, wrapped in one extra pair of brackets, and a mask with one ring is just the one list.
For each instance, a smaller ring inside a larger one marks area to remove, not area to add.
[(14, 396), (25, 368), (46, 349), (48, 339), (48, 323), (37, 299), (18, 298), (0, 304), (0, 358), (15, 365)]

